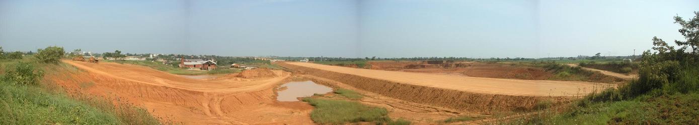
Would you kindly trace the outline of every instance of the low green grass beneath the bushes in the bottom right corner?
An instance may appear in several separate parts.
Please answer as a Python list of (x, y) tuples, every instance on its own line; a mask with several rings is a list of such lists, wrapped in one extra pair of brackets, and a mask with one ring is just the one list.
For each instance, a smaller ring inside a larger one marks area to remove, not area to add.
[(576, 103), (563, 113), (540, 112), (510, 124), (696, 124), (699, 94)]

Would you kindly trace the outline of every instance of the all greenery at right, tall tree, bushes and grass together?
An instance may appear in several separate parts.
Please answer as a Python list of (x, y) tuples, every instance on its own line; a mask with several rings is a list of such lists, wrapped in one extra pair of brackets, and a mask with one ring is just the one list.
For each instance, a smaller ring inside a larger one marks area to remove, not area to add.
[[(675, 23), (687, 41), (675, 40), (679, 49), (653, 38), (657, 52), (644, 51), (638, 79), (593, 93), (573, 103), (562, 113), (539, 111), (510, 124), (696, 124), (699, 123), (699, 44), (692, 35), (699, 28), (699, 12)], [(686, 49), (694, 49), (689, 52)]]

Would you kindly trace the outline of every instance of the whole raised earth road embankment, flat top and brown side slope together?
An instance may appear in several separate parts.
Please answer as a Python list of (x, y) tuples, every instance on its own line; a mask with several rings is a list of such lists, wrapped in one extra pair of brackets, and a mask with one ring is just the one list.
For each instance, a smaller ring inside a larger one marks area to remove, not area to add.
[(561, 103), (608, 86), (577, 81), (526, 81), (411, 72), (391, 72), (280, 63), (296, 72), (327, 78), (386, 97), (424, 103), (468, 113), (531, 110), (540, 101)]

